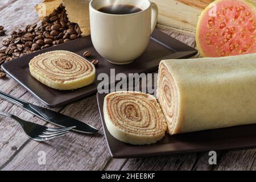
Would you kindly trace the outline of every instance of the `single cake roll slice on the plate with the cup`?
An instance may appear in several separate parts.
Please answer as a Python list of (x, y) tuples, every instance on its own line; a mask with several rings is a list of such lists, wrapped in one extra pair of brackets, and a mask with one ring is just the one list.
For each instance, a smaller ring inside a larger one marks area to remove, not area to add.
[(36, 80), (58, 90), (78, 89), (92, 84), (95, 79), (94, 65), (69, 51), (43, 53), (34, 57), (29, 66)]

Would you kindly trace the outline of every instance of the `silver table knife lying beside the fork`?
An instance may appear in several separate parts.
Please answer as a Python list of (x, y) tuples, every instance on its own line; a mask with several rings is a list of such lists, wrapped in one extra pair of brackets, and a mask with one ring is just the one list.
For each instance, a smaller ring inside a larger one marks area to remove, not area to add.
[(18, 105), (20, 107), (23, 107), (28, 112), (38, 116), (39, 118), (44, 119), (44, 121), (52, 123), (53, 125), (60, 126), (60, 127), (76, 126), (76, 128), (73, 129), (74, 131), (77, 131), (80, 133), (86, 133), (86, 134), (94, 134), (98, 132), (98, 129), (96, 129), (95, 127), (92, 127), (86, 123), (78, 121), (77, 119), (68, 117), (67, 115), (57, 113), (56, 111), (49, 110), (44, 107), (30, 104), (26, 101), (20, 100), (18, 98), (10, 96), (9, 94), (3, 93), (1, 91), (0, 91), (0, 98), (2, 98), (3, 100), (9, 101), (15, 105)]

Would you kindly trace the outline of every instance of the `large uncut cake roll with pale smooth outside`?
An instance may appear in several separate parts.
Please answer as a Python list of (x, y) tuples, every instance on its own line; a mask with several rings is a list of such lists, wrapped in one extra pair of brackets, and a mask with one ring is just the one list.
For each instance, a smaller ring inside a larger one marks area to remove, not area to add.
[(158, 101), (168, 133), (256, 123), (256, 54), (163, 60)]

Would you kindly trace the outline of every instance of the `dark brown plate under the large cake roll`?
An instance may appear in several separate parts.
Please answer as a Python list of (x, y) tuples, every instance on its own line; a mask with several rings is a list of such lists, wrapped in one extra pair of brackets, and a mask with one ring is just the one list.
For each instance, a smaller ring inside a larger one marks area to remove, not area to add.
[(104, 134), (113, 158), (141, 158), (154, 155), (182, 154), (188, 152), (245, 149), (256, 147), (256, 125), (228, 127), (193, 133), (168, 135), (155, 144), (134, 146), (123, 143), (106, 128), (103, 104), (106, 94), (97, 93)]

